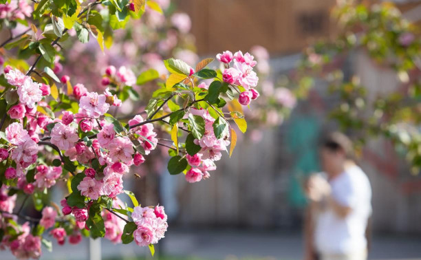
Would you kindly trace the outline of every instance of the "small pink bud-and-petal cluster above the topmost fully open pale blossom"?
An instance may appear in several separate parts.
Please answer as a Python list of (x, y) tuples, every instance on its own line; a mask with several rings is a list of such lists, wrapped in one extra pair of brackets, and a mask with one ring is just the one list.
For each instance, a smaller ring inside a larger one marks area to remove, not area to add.
[(125, 66), (116, 69), (116, 67), (111, 65), (105, 69), (105, 75), (102, 77), (101, 84), (104, 86), (110, 84), (133, 86), (136, 84), (136, 76), (131, 69)]

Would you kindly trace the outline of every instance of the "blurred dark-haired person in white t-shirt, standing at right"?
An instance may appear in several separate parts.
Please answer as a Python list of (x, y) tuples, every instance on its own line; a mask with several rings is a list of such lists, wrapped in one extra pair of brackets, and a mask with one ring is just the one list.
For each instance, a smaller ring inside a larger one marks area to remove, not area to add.
[(321, 144), (323, 173), (305, 187), (305, 260), (365, 260), (371, 216), (371, 186), (352, 158), (352, 142), (330, 133)]

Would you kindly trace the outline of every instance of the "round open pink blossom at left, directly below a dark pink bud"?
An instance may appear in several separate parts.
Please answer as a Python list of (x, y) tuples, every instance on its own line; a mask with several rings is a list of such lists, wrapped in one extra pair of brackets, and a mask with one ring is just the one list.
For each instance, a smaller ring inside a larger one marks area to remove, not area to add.
[(78, 140), (79, 137), (76, 133), (76, 129), (70, 125), (58, 122), (51, 131), (51, 143), (55, 144), (60, 150), (68, 150), (74, 147), (74, 144), (78, 142)]

